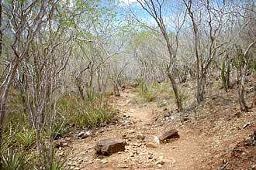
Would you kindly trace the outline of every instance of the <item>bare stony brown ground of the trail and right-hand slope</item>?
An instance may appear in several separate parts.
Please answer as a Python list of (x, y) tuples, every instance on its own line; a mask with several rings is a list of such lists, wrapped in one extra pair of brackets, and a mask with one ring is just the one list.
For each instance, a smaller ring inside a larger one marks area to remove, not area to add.
[[(67, 134), (56, 141), (57, 154), (67, 155), (67, 165), (77, 170), (256, 169), (256, 146), (250, 141), (256, 128), (255, 84), (252, 81), (247, 89), (254, 106), (248, 113), (240, 112), (235, 88), (216, 91), (202, 106), (180, 113), (166, 100), (133, 104), (137, 94), (126, 88), (120, 97), (112, 97), (119, 113), (111, 123)], [(172, 129), (179, 138), (159, 142)], [(96, 154), (95, 145), (106, 138), (123, 140), (125, 150)]]

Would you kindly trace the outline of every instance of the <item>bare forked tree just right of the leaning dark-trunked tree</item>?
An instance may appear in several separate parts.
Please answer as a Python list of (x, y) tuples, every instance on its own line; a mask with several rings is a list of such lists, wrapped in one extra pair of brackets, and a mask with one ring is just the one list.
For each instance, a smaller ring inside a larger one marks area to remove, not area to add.
[[(183, 0), (185, 7), (188, 10), (189, 17), (192, 22), (192, 29), (194, 33), (194, 48), (195, 48), (195, 61), (196, 61), (196, 80), (197, 80), (197, 90), (196, 90), (196, 99), (197, 103), (200, 104), (204, 100), (204, 93), (206, 87), (206, 74), (208, 73), (209, 66), (213, 62), (213, 59), (216, 56), (220, 56), (224, 53), (223, 50), (220, 53), (217, 53), (220, 47), (224, 46), (227, 41), (220, 42), (221, 31), (224, 24), (227, 22), (227, 18), (224, 16), (225, 8), (227, 6), (226, 2), (223, 2), (223, 5), (214, 8), (213, 4), (209, 1), (202, 1), (197, 7), (192, 0), (185, 1)], [(196, 10), (194, 9), (196, 8)], [(202, 12), (206, 13), (206, 18), (202, 18)], [(206, 22), (206, 25), (203, 25), (203, 22)], [(206, 32), (206, 39), (208, 41), (203, 46), (203, 35), (202, 31), (200, 32), (199, 26), (204, 26), (204, 32)]]

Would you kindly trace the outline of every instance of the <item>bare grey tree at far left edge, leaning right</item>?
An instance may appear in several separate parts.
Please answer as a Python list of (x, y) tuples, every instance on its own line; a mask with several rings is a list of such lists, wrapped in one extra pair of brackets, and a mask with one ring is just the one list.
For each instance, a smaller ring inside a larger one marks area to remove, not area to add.
[[(0, 143), (5, 126), (6, 100), (9, 96), (9, 89), (16, 76), (16, 71), (28, 55), (35, 33), (44, 22), (45, 8), (45, 2), (36, 0), (29, 2), (12, 1), (9, 6), (2, 5), (2, 12), (8, 19), (14, 38), (10, 45), (12, 57), (5, 60), (6, 67), (2, 72), (0, 85)], [(5, 46), (9, 46), (9, 44), (5, 44)]]

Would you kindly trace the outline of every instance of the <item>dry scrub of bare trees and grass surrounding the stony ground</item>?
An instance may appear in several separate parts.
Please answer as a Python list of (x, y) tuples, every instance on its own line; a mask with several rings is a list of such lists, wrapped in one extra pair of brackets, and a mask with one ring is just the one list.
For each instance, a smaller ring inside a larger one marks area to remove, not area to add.
[(182, 112), (218, 87), (255, 107), (255, 1), (128, 2), (0, 1), (0, 169), (66, 169), (54, 139), (107, 124), (130, 85), (135, 104)]

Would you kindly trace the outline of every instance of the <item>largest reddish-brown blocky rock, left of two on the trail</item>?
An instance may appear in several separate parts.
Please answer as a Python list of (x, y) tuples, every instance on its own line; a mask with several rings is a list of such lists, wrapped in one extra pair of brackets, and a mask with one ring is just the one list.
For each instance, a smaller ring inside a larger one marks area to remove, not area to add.
[(112, 155), (113, 153), (124, 151), (126, 141), (119, 138), (102, 139), (95, 145), (95, 151), (99, 155)]

